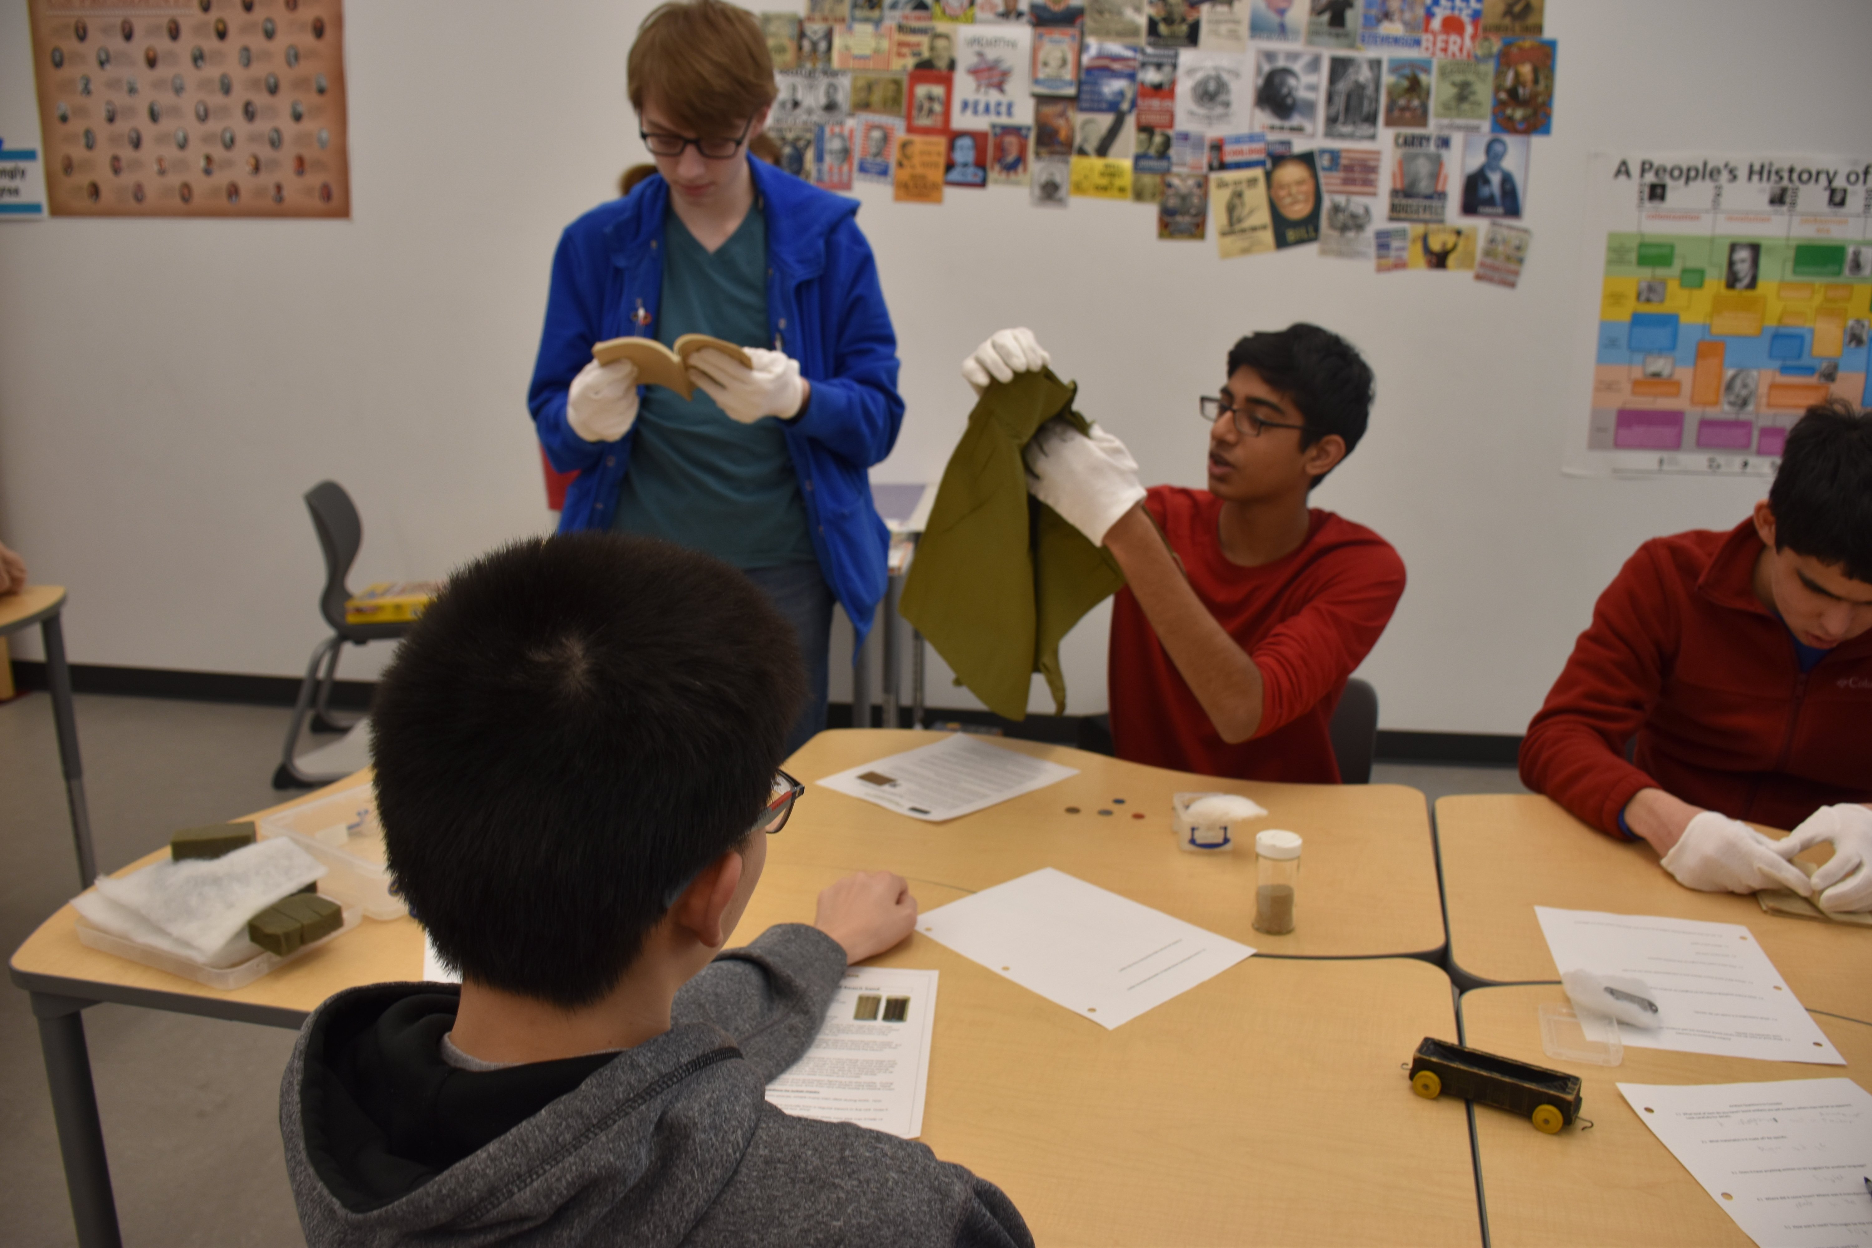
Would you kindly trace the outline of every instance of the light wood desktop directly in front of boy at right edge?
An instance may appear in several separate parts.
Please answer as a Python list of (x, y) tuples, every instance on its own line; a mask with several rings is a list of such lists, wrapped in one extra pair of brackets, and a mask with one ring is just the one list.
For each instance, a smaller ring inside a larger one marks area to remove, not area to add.
[(1784, 919), (1752, 896), (1685, 889), (1651, 846), (1614, 840), (1546, 797), (1445, 797), (1436, 838), (1458, 984), (1559, 979), (1535, 906), (1668, 915), (1748, 928), (1801, 1005), (1872, 1022), (1872, 928)]

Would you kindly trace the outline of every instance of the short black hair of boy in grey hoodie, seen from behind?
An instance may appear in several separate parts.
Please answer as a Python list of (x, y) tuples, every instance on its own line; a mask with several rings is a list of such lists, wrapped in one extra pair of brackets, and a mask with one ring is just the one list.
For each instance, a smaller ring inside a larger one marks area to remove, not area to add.
[(592, 1005), (754, 827), (803, 698), (792, 625), (726, 563), (622, 533), (502, 546), (376, 689), (395, 887), (466, 979)]

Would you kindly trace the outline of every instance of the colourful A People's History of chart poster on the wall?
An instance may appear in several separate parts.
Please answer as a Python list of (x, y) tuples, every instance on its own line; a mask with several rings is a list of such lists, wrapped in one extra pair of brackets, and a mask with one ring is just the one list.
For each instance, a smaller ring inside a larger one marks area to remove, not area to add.
[(1587, 176), (1593, 399), (1567, 473), (1773, 477), (1808, 406), (1866, 402), (1872, 159), (1595, 153)]

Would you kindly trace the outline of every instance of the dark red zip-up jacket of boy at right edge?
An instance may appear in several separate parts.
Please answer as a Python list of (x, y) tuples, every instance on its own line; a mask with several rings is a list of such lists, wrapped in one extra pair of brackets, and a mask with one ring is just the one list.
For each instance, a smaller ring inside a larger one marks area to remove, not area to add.
[(1872, 632), (1801, 672), (1760, 554), (1747, 520), (1638, 546), (1528, 724), (1522, 782), (1614, 836), (1645, 788), (1769, 827), (1872, 801)]

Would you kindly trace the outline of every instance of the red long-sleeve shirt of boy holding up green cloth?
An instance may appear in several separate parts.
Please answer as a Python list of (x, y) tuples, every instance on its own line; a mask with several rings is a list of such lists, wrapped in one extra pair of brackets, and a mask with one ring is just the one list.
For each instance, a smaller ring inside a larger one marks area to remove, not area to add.
[(1215, 494), (1161, 485), (1144, 505), (1204, 608), (1262, 670), (1262, 722), (1249, 741), (1222, 741), (1127, 588), (1112, 604), (1106, 674), (1118, 756), (1211, 776), (1338, 784), (1327, 726), (1404, 595), (1404, 559), (1368, 528), (1310, 511), (1297, 550), (1237, 567), (1222, 554)]

